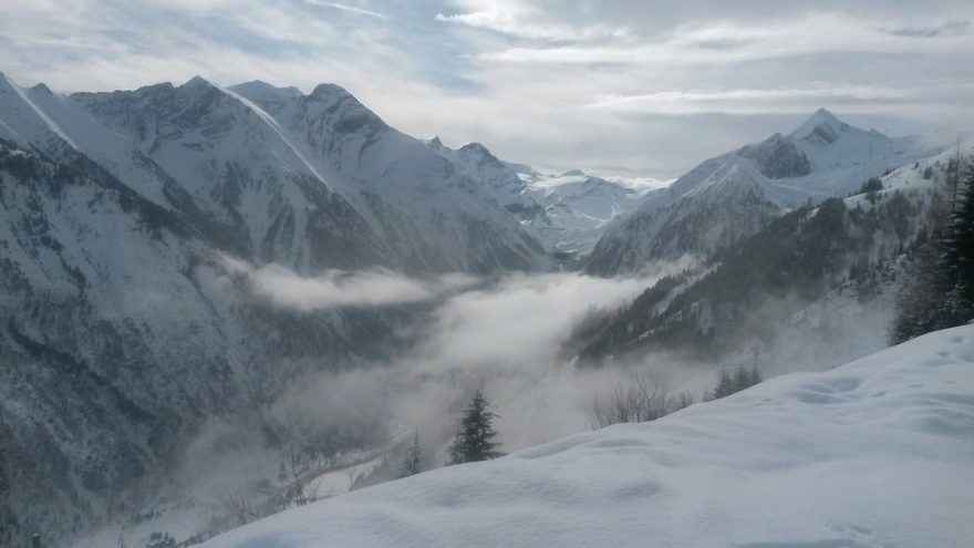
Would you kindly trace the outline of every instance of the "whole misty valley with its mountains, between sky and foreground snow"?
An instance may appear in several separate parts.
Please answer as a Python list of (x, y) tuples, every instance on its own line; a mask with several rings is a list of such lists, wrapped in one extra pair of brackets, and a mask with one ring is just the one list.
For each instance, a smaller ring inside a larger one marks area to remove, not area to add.
[(819, 110), (633, 184), (334, 84), (0, 76), (0, 540), (188, 546), (396, 479), (414, 437), (437, 468), (478, 389), (517, 461), (634, 375), (693, 403), (881, 351), (972, 153)]

